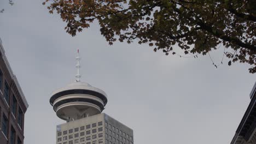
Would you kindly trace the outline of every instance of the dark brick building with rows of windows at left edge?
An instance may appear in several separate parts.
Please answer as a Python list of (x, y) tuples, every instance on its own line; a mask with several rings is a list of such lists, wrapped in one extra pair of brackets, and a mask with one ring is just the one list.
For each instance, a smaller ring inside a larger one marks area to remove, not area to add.
[(0, 40), (0, 143), (22, 144), (24, 141), (24, 116), (28, 108)]

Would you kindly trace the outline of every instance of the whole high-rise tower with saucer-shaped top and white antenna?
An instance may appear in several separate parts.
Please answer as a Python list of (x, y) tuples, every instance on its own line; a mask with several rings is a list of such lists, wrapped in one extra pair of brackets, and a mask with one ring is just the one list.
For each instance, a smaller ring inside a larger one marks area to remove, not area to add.
[(80, 82), (79, 51), (77, 79), (57, 89), (50, 98), (56, 115), (66, 123), (57, 125), (57, 144), (133, 144), (133, 131), (114, 118), (101, 113), (107, 94), (88, 83)]

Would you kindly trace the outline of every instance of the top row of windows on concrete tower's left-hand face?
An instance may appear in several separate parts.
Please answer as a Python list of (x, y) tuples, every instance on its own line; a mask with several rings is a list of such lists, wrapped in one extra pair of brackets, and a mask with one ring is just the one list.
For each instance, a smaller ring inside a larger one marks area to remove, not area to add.
[[(98, 122), (98, 127), (100, 127), (100, 126), (102, 126), (102, 122)], [(96, 128), (96, 127), (97, 127), (97, 123), (88, 124), (88, 125), (86, 125), (86, 130), (91, 129), (91, 128)], [(84, 128), (85, 128), (84, 126), (80, 127), (80, 131), (85, 130)], [(62, 132), (60, 131), (60, 132), (57, 133), (57, 136), (67, 135), (67, 132), (68, 132), (68, 134), (72, 134), (73, 131), (74, 131), (74, 133), (75, 133), (75, 132), (78, 132), (78, 131), (79, 131), (79, 128), (69, 129), (68, 131), (65, 130), (65, 131), (62, 131)], [(90, 131), (90, 130), (89, 130), (89, 131)], [(92, 133), (93, 133), (93, 131), (96, 131), (96, 129), (92, 129)], [(98, 131), (102, 131), (102, 127), (101, 127), (101, 128), (98, 128)], [(86, 134), (87, 134), (87, 133), (88, 133), (88, 131), (86, 131)], [(95, 133), (96, 133), (96, 132), (95, 132)]]

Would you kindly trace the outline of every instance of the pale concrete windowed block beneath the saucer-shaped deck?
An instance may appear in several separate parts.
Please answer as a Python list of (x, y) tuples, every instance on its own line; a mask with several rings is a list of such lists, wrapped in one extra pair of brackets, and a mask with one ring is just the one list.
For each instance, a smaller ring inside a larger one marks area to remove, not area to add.
[(57, 144), (133, 144), (133, 131), (105, 113), (57, 125)]

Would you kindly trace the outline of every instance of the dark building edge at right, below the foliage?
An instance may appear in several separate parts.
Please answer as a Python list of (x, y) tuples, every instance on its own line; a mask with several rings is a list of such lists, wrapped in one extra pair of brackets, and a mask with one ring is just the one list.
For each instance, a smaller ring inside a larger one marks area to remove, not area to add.
[(250, 93), (251, 102), (245, 115), (238, 125), (231, 144), (255, 144), (256, 143), (256, 82)]

